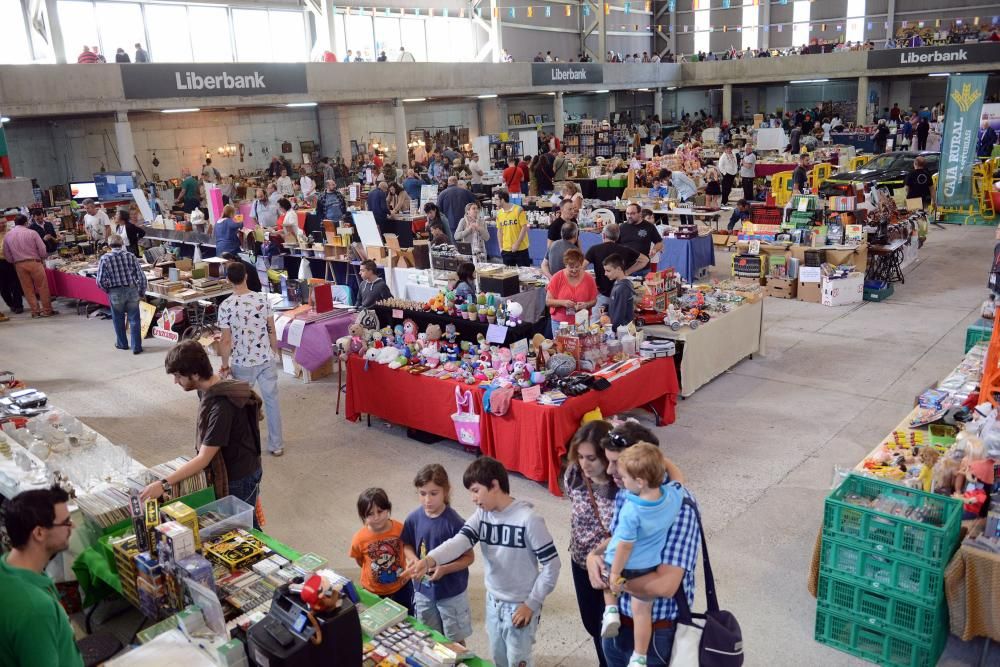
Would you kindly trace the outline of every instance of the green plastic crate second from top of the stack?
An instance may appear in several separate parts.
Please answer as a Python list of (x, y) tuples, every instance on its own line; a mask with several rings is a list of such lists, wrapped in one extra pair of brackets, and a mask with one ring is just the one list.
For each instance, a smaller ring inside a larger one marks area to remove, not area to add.
[(897, 599), (935, 606), (944, 599), (944, 570), (892, 558), (823, 536), (820, 573)]

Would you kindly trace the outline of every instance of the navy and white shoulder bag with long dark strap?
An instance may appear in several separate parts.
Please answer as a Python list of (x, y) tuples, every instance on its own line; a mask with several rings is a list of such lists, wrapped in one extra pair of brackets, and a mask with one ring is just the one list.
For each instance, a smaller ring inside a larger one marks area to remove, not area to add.
[(739, 667), (743, 664), (743, 632), (736, 617), (719, 608), (701, 515), (690, 498), (685, 498), (684, 504), (691, 508), (698, 519), (708, 610), (704, 614), (691, 613), (682, 581), (674, 593), (677, 621), (674, 646), (670, 652), (670, 667)]

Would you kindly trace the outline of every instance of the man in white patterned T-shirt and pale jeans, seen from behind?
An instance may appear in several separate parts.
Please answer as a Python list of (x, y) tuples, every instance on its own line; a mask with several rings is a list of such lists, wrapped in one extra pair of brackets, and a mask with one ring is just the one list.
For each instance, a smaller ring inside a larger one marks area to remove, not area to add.
[(226, 277), (233, 285), (233, 294), (219, 306), (218, 324), (222, 329), (219, 375), (231, 375), (257, 388), (267, 418), (267, 451), (272, 456), (281, 456), (285, 449), (275, 363), (281, 353), (274, 314), (267, 294), (247, 287), (247, 269), (241, 262), (226, 264)]

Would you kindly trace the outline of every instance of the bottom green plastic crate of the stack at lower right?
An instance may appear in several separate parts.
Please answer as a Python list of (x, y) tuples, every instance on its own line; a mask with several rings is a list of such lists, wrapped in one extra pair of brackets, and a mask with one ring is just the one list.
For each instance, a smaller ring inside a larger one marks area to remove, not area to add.
[(948, 641), (942, 626), (929, 642), (871, 628), (828, 609), (816, 609), (816, 641), (885, 667), (934, 667)]

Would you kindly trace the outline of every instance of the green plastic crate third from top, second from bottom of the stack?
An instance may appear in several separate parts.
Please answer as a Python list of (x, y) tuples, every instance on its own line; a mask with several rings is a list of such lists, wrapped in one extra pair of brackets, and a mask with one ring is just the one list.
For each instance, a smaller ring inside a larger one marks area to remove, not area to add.
[(926, 641), (942, 626), (948, 627), (948, 605), (942, 600), (928, 607), (867, 590), (839, 577), (819, 577), (816, 599), (821, 608), (893, 635)]

